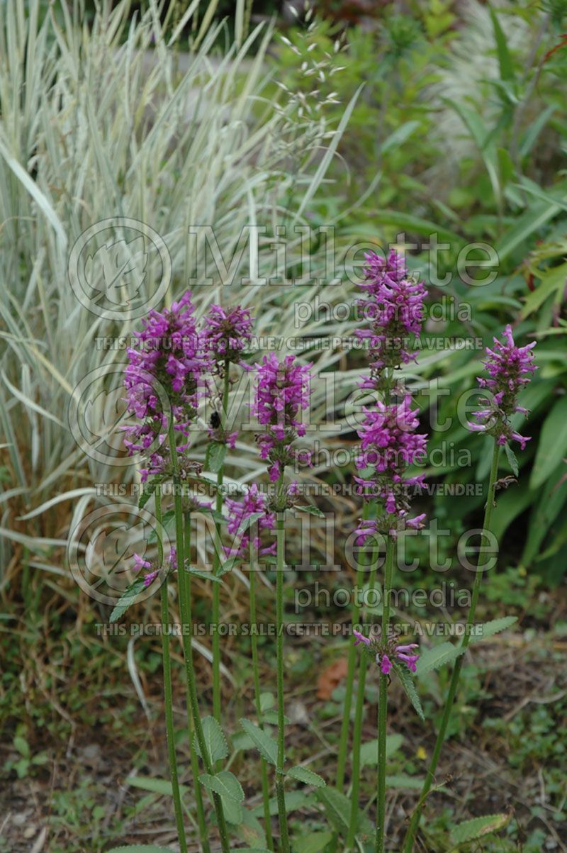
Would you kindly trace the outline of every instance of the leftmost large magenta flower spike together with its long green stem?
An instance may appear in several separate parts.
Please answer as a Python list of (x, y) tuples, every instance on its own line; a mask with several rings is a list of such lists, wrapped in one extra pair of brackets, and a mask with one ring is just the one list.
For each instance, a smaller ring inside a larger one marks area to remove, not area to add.
[[(178, 591), (187, 681), (187, 705), (188, 715), (190, 715), (188, 730), (191, 731), (191, 722), (193, 722), (206, 772), (214, 775), (200, 719), (190, 636), (192, 629), (190, 576), (185, 559), (190, 553), (190, 539), (189, 526), (186, 531), (183, 530), (182, 474), (188, 473), (191, 463), (182, 456), (187, 449), (187, 441), (185, 444), (178, 445), (176, 438), (178, 434), (181, 434), (183, 439), (189, 435), (189, 427), (196, 414), (200, 396), (202, 374), (206, 367), (200, 351), (199, 335), (195, 328), (190, 293), (185, 293), (179, 302), (174, 302), (171, 309), (165, 310), (163, 314), (156, 310), (150, 311), (148, 317), (142, 321), (142, 325), (142, 332), (135, 333), (136, 348), (132, 347), (128, 350), (129, 364), (125, 371), (124, 386), (128, 408), (137, 422), (133, 426), (125, 427), (124, 444), (130, 452), (145, 451), (148, 454), (148, 462), (146, 467), (141, 469), (141, 475), (144, 482), (151, 478), (152, 491), (155, 491), (155, 487), (160, 486), (165, 479), (171, 478), (173, 481)], [(159, 504), (159, 512), (160, 510)], [(141, 566), (144, 562), (140, 560)], [(146, 581), (153, 575), (154, 573), (150, 572)], [(165, 615), (163, 600), (162, 615)], [(166, 656), (168, 651), (169, 647), (165, 653)], [(191, 750), (194, 753), (192, 746)], [(192, 754), (191, 763), (198, 826), (201, 842), (206, 851), (210, 850), (210, 846), (197, 779), (198, 764), (194, 754)], [(175, 770), (171, 772), (172, 786), (175, 786), (173, 780)], [(223, 815), (223, 804), (217, 793), (213, 792), (212, 798), (223, 853), (229, 853), (229, 837)], [(180, 844), (183, 844), (181, 838)]]

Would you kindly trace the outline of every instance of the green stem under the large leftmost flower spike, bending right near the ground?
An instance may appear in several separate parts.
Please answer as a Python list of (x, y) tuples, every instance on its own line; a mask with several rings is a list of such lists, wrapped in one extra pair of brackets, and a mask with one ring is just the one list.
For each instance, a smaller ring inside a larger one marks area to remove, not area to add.
[[(182, 646), (183, 657), (185, 658), (185, 674), (187, 677), (187, 695), (188, 707), (191, 710), (193, 717), (194, 731), (199, 745), (200, 754), (205, 764), (205, 770), (208, 774), (214, 775), (215, 770), (212, 766), (209, 753), (205, 744), (203, 735), (203, 725), (201, 723), (199, 712), (199, 700), (197, 699), (197, 688), (193, 664), (193, 649), (191, 646), (191, 630), (193, 628), (193, 618), (191, 615), (191, 589), (189, 586), (190, 575), (183, 568), (183, 555), (188, 553), (190, 543), (188, 542), (189, 535), (183, 541), (183, 517), (182, 517), (182, 499), (181, 499), (181, 481), (179, 479), (179, 465), (177, 461), (177, 449), (175, 432), (173, 428), (173, 419), (171, 418), (169, 427), (169, 440), (171, 451), (171, 467), (173, 470), (173, 500), (175, 507), (176, 519), (176, 547), (178, 569), (177, 575), (179, 578), (179, 608), (181, 611), (182, 621)], [(190, 745), (191, 746), (191, 745)], [(197, 790), (199, 783), (195, 783), (195, 797), (198, 798)], [(229, 836), (227, 833), (226, 822), (224, 820), (223, 803), (217, 793), (212, 795), (213, 805), (217, 814), (218, 831), (221, 837), (221, 846), (223, 853), (230, 853)]]

